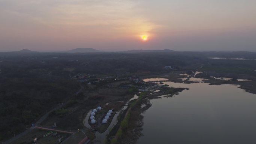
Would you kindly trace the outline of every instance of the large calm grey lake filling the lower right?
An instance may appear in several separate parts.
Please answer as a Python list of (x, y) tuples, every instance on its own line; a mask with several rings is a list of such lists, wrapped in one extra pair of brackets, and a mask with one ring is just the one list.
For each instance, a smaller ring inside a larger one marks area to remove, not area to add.
[(256, 142), (256, 95), (238, 85), (164, 84), (189, 88), (152, 99), (137, 144), (252, 144)]

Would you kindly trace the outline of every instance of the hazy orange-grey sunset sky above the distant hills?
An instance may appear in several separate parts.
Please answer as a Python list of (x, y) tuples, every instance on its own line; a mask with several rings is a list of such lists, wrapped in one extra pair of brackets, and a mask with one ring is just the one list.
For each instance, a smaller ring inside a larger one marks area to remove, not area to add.
[(0, 0), (0, 51), (256, 51), (255, 6), (256, 0)]

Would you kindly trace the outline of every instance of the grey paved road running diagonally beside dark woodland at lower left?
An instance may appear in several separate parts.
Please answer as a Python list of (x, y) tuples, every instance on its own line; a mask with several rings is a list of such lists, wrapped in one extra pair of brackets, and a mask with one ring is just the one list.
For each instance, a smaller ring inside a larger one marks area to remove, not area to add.
[[(81, 92), (82, 89), (83, 89), (83, 86), (81, 86), (81, 88), (80, 88), (80, 90), (77, 92), (77, 94), (78, 94), (79, 92)], [(70, 101), (70, 100), (69, 100), (69, 101)], [(63, 105), (67, 104), (69, 101), (63, 103), (62, 105), (58, 106), (58, 107), (55, 108), (54, 110), (61, 108)], [(51, 111), (52, 111), (52, 110), (51, 110)], [(49, 111), (49, 112), (46, 113), (41, 119), (39, 119), (39, 120), (34, 124), (34, 126), (31, 126), (31, 127), (28, 128), (26, 131), (22, 132), (21, 134), (16, 135), (15, 137), (11, 138), (10, 140), (8, 140), (8, 141), (6, 141), (6, 142), (4, 142), (4, 143), (2, 143), (2, 144), (11, 144), (13, 141), (17, 140), (18, 138), (21, 138), (22, 136), (28, 134), (28, 133), (29, 133), (30, 131), (32, 131), (36, 126), (38, 126), (41, 122), (43, 122), (43, 120), (45, 120), (46, 117), (48, 117), (48, 114), (49, 114), (51, 111)]]

